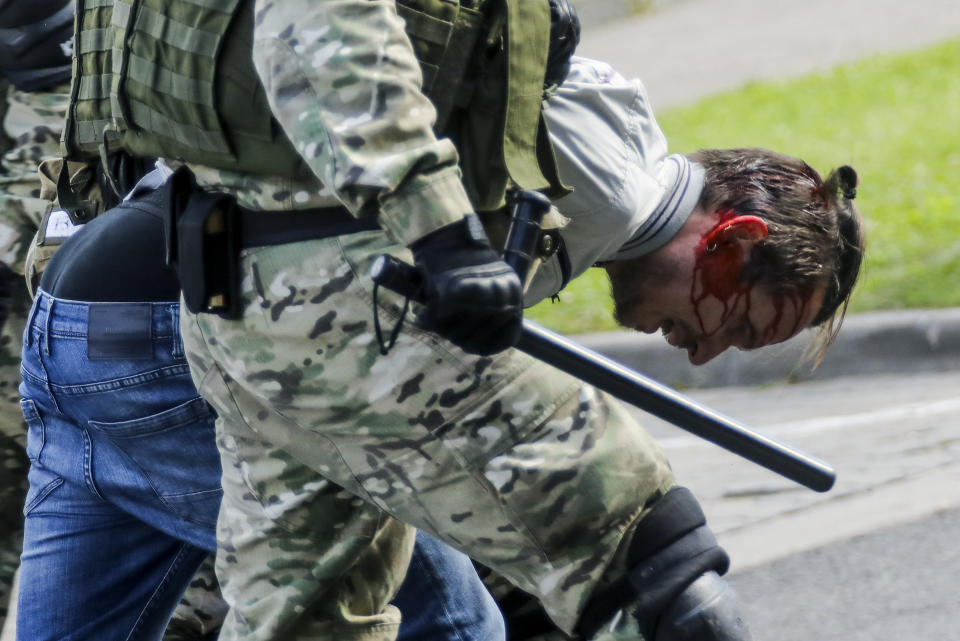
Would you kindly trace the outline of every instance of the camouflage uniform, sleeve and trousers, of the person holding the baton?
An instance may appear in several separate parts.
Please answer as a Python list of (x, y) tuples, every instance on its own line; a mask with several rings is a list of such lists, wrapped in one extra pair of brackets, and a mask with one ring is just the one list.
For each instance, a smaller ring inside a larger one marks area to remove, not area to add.
[[(371, 262), (409, 261), (404, 245), (471, 210), (456, 152), (431, 132), (390, 3), (258, 2), (257, 17), (271, 107), (318, 179), (198, 177), (254, 209), (377, 211), (387, 233), (246, 250), (242, 320), (183, 312), (194, 379), (220, 416), (223, 638), (267, 638), (324, 598), (336, 618), (303, 621), (298, 638), (392, 639), (391, 553), (412, 534), (387, 514), (537, 596), (572, 632), (673, 484), (664, 455), (611, 398), (514, 350), (469, 356), (411, 316), (380, 355), (374, 313), (389, 327), (403, 301), (374, 295)], [(641, 636), (624, 612), (600, 638)]]

